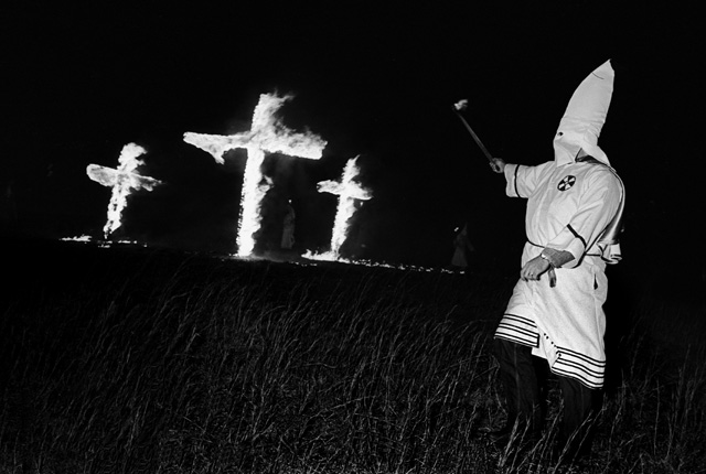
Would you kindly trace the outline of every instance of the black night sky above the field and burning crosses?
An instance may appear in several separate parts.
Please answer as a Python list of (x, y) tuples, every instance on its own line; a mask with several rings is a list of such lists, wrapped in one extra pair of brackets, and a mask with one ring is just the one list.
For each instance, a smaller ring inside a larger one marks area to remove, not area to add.
[(467, 117), (495, 155), (541, 163), (576, 86), (612, 58), (599, 142), (627, 186), (627, 261), (672, 271), (676, 251), (704, 268), (693, 233), (704, 216), (693, 118), (703, 115), (704, 55), (698, 15), (675, 2), (7, 3), (0, 176), (3, 226), (14, 231), (98, 236), (109, 191), (85, 168), (115, 166), (137, 142), (143, 172), (167, 184), (133, 196), (126, 236), (227, 250), (243, 160), (218, 165), (181, 138), (246, 130), (259, 94), (277, 90), (295, 95), (285, 122), (329, 142), (321, 161), (270, 162), (277, 193), (295, 201), (301, 245), (328, 244), (334, 201), (315, 182), (361, 154), (375, 198), (360, 212), (356, 255), (443, 265), (468, 219), (480, 250), (518, 261), (524, 202), (504, 196), (451, 105), (470, 100)]

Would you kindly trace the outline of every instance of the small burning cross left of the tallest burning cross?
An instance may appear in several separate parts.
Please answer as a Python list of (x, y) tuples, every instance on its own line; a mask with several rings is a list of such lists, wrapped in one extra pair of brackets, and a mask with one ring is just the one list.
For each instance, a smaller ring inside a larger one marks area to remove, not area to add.
[(104, 186), (113, 187), (110, 203), (108, 204), (108, 220), (103, 227), (106, 238), (122, 225), (122, 209), (127, 205), (127, 198), (133, 190), (152, 191), (154, 186), (161, 184), (161, 181), (152, 177), (142, 176), (137, 173), (137, 169), (145, 164), (138, 157), (147, 153), (147, 151), (135, 143), (128, 143), (122, 147), (120, 158), (118, 158), (118, 168), (116, 170), (97, 164), (89, 164), (86, 168), (88, 177)]

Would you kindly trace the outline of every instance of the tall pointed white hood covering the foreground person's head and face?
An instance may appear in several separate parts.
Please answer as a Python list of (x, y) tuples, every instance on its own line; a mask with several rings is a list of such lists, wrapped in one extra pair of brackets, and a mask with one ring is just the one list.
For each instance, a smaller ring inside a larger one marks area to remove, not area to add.
[(558, 166), (574, 162), (579, 149), (608, 165), (608, 157), (598, 147), (613, 93), (616, 72), (610, 61), (601, 64), (574, 91), (554, 137), (554, 160)]

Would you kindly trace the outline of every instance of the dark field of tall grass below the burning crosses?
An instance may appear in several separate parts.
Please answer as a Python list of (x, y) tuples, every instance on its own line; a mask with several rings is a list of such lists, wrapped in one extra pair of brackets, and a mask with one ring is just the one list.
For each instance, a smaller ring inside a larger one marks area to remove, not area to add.
[[(555, 471), (552, 432), (523, 455), (483, 434), (504, 417), (510, 278), (8, 251), (2, 473)], [(569, 472), (706, 472), (703, 306), (645, 294), (620, 317), (593, 454)]]

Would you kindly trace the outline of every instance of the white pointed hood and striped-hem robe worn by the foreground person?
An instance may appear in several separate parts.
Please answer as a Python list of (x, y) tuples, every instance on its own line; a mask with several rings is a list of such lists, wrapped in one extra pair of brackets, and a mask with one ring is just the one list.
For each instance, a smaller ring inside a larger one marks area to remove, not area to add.
[[(542, 258), (550, 268), (546, 278), (526, 274), (517, 282), (495, 337), (532, 346), (552, 371), (589, 388), (603, 386), (605, 270), (620, 260), (624, 205), (622, 182), (598, 147), (613, 76), (606, 62), (576, 89), (554, 139), (554, 161), (503, 170), (506, 194), (527, 198), (522, 267)], [(553, 262), (569, 258), (570, 260)]]

